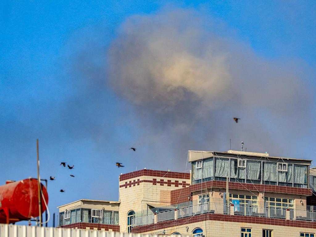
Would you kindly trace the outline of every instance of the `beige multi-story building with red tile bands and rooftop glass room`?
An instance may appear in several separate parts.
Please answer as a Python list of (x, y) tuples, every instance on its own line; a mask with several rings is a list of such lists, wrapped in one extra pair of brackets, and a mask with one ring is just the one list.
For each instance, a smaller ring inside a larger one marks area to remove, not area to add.
[(311, 160), (229, 150), (189, 151), (188, 161), (190, 173), (120, 175), (119, 231), (316, 237)]

